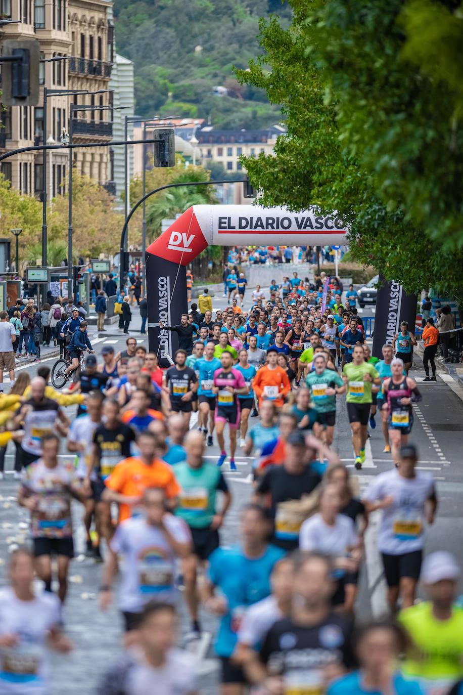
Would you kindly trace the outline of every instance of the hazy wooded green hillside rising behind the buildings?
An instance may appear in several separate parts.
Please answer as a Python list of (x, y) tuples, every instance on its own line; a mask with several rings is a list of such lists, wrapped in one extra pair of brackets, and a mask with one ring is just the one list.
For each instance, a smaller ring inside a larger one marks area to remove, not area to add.
[[(220, 97), (258, 49), (259, 17), (285, 0), (115, 0), (117, 50), (135, 63), (137, 113), (211, 118), (216, 128), (259, 128), (280, 117), (261, 90)], [(174, 109), (174, 111), (172, 111)]]

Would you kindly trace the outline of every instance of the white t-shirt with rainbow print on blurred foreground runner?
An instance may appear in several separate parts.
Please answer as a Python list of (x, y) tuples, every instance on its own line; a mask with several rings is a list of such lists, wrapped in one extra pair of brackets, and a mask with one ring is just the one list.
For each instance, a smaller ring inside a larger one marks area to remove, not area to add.
[[(191, 541), (192, 534), (183, 519), (165, 514), (162, 523), (178, 543)], [(111, 550), (124, 556), (119, 591), (122, 611), (141, 612), (153, 599), (176, 602), (176, 555), (162, 529), (149, 525), (144, 518), (127, 519), (117, 527)]]

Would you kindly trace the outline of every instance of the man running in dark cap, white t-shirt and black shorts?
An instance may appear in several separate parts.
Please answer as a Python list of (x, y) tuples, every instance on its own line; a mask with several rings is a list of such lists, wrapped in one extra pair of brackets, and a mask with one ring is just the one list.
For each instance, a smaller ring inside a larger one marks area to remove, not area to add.
[(378, 550), (387, 582), (392, 615), (399, 596), (402, 607), (412, 606), (421, 571), (425, 521), (432, 524), (437, 509), (431, 473), (416, 471), (418, 454), (413, 445), (400, 451), (397, 469), (376, 476), (364, 495), (369, 514), (382, 509)]

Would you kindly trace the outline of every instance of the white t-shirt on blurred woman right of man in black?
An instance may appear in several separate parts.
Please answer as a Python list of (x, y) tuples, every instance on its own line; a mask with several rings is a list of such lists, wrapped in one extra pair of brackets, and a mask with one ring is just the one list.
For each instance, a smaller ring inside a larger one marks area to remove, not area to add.
[(321, 514), (314, 514), (304, 521), (299, 532), (301, 550), (313, 550), (333, 557), (345, 557), (347, 548), (356, 546), (357, 543), (355, 525), (344, 514), (337, 514), (332, 526), (323, 521)]

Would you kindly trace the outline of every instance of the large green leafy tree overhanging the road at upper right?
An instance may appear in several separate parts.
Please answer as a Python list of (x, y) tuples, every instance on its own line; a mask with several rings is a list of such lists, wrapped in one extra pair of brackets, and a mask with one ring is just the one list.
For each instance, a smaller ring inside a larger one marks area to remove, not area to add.
[[(357, 259), (376, 265), (388, 279), (400, 279), (408, 291), (432, 285), (462, 296), (463, 251), (459, 242), (449, 243), (452, 224), (436, 197), (437, 187), (446, 184), (448, 190), (441, 191), (446, 209), (461, 206), (461, 177), (455, 178), (462, 166), (460, 136), (455, 134), (452, 175), (445, 171), (448, 152), (443, 155), (437, 145), (439, 138), (449, 145), (449, 114), (440, 104), (432, 113), (439, 90), (406, 58), (403, 27), (411, 21), (406, 3), (290, 4), (291, 26), (262, 19), (264, 53), (249, 70), (237, 70), (239, 81), (265, 90), (287, 117), (276, 157), (242, 160), (262, 190), (260, 202), (336, 210), (350, 225)], [(432, 210), (428, 197), (435, 201)]]

